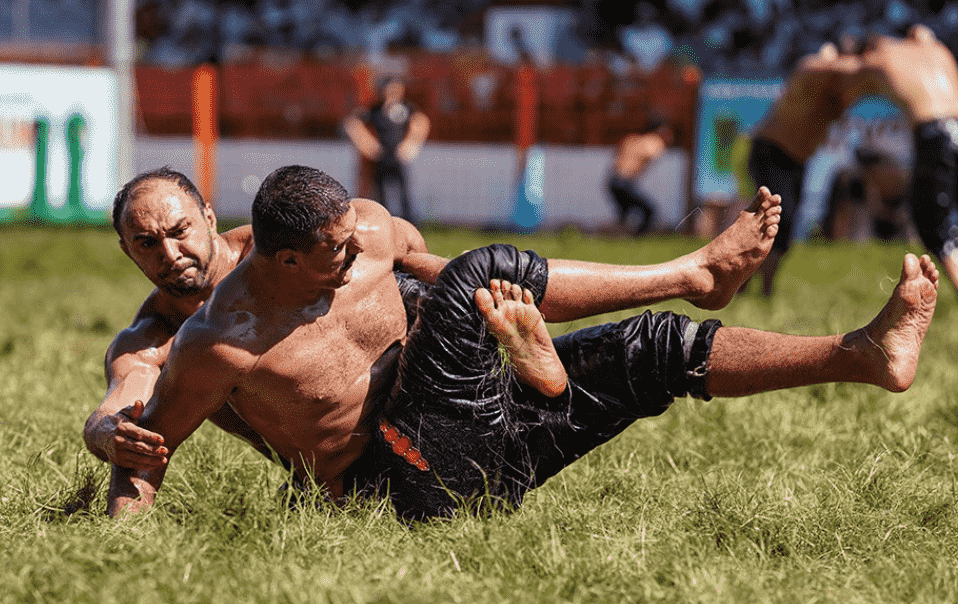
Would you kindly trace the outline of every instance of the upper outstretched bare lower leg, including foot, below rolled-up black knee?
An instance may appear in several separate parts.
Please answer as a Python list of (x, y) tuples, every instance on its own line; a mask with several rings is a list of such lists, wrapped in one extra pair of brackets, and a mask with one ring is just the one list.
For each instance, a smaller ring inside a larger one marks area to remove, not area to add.
[(703, 248), (664, 264), (550, 260), (549, 286), (539, 308), (554, 323), (675, 298), (709, 310), (722, 308), (768, 255), (778, 232), (780, 202), (762, 187), (732, 226)]

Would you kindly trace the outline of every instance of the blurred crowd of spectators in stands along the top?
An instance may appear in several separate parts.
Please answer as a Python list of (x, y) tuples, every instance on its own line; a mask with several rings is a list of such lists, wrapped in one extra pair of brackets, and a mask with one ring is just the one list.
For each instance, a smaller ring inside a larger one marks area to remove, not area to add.
[[(328, 56), (390, 49), (453, 52), (484, 44), (496, 8), (561, 11), (557, 62), (612, 71), (663, 60), (704, 73), (787, 72), (825, 41), (921, 22), (958, 48), (958, 2), (945, 0), (133, 0), (139, 59), (182, 67), (263, 49)], [(0, 42), (93, 41), (105, 0), (0, 0)]]

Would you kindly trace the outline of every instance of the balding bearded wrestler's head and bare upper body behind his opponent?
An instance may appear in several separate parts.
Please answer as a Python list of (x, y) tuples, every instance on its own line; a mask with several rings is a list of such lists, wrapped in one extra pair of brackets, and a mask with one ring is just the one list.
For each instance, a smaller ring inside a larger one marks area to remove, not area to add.
[[(393, 221), (398, 249), (427, 251), (415, 227), (398, 218)], [(162, 437), (137, 421), (144, 401), (153, 394), (173, 337), (249, 253), (253, 232), (241, 226), (219, 234), (212, 207), (185, 175), (169, 168), (139, 174), (120, 190), (113, 226), (120, 247), (156, 289), (107, 349), (107, 393), (87, 419), (83, 439), (100, 459), (142, 470), (163, 463), (168, 453)], [(271, 457), (262, 438), (229, 405), (209, 419)]]

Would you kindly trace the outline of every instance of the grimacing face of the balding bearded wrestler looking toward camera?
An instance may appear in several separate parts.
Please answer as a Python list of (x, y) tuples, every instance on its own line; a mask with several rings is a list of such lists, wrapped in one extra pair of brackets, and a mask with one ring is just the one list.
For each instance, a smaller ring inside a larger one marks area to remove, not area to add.
[(183, 298), (203, 292), (216, 232), (212, 208), (201, 209), (165, 180), (147, 187), (123, 208), (120, 247), (167, 294)]

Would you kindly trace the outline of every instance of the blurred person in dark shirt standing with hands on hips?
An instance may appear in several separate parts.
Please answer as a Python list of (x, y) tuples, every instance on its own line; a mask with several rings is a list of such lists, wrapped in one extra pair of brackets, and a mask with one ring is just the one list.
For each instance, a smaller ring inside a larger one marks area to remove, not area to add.
[(394, 216), (413, 220), (406, 164), (419, 155), (429, 136), (429, 118), (406, 100), (405, 83), (387, 76), (379, 83), (379, 100), (346, 118), (346, 136), (359, 153), (375, 164), (377, 201)]

